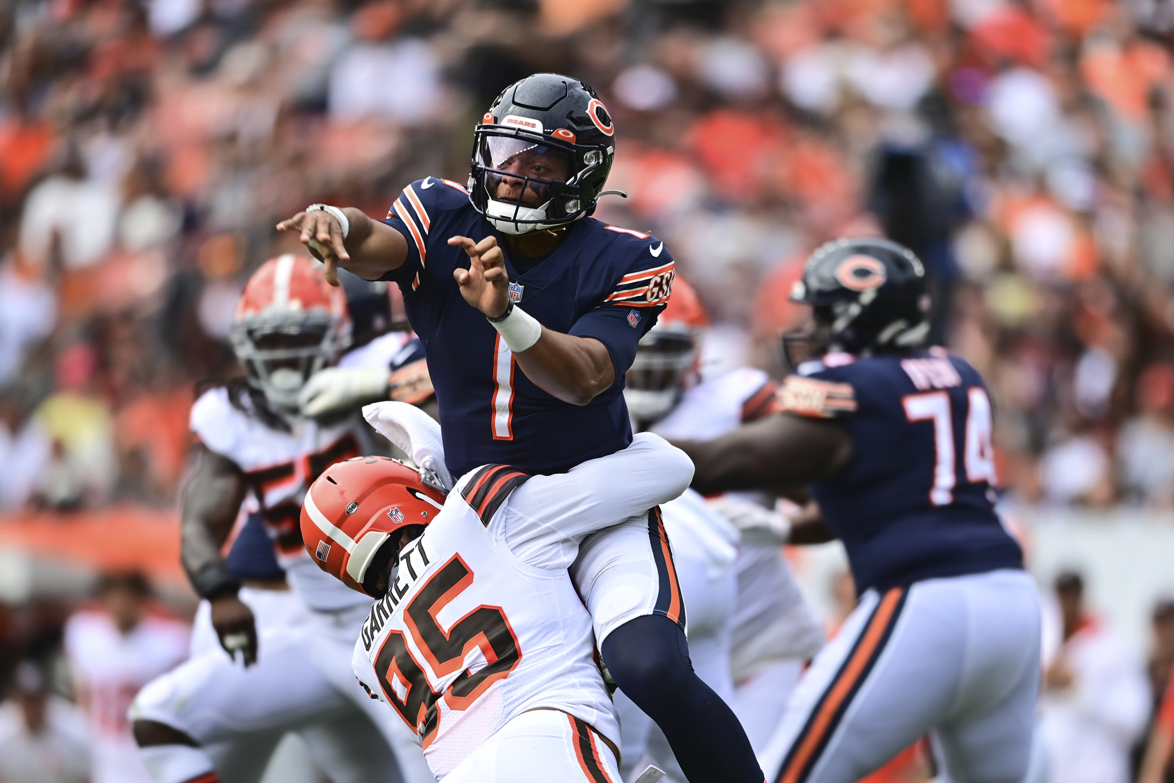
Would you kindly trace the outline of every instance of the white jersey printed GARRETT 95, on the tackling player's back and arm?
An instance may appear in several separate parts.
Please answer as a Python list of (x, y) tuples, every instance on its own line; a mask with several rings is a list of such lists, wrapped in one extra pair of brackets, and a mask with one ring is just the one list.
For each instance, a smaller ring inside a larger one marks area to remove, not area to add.
[(511, 718), (558, 709), (613, 742), (592, 619), (567, 573), (589, 533), (679, 495), (688, 458), (662, 439), (567, 473), (488, 465), (461, 478), (410, 544), (355, 646), (355, 673), (446, 775)]

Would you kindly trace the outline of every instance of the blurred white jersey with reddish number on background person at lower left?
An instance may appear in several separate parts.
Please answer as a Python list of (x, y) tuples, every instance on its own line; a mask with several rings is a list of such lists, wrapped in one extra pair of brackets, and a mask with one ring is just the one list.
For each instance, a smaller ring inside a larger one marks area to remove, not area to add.
[(188, 656), (188, 626), (147, 615), (123, 635), (104, 612), (82, 610), (66, 622), (65, 649), (90, 729), (95, 783), (149, 783), (127, 710), (144, 684)]

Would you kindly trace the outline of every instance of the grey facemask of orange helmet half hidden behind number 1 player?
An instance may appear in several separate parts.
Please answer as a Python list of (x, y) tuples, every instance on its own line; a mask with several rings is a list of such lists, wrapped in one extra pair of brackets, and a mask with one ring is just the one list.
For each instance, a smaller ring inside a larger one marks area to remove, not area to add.
[(632, 418), (648, 424), (666, 417), (684, 394), (697, 364), (697, 339), (688, 332), (653, 329), (640, 338), (625, 383)]

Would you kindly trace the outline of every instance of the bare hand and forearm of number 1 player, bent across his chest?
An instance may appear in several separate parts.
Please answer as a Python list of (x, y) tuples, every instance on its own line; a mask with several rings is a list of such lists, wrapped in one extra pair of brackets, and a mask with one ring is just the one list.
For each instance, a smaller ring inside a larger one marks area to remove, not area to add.
[[(468, 254), (470, 268), (453, 272), (465, 301), (486, 318), (501, 317), (510, 306), (510, 275), (497, 239), (457, 236), (448, 244)], [(586, 405), (615, 383), (615, 365), (603, 343), (540, 329), (538, 342), (514, 352), (518, 366), (539, 389), (564, 403)]]

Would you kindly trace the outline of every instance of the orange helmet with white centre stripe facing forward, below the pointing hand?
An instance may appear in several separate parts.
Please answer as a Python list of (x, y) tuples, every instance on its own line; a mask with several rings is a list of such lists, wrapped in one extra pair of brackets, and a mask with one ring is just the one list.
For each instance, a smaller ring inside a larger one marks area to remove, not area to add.
[(351, 340), (346, 296), (322, 264), (285, 254), (249, 278), (232, 318), (232, 350), (271, 404), (297, 410), (297, 394)]

